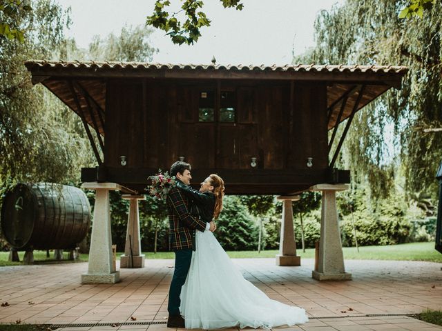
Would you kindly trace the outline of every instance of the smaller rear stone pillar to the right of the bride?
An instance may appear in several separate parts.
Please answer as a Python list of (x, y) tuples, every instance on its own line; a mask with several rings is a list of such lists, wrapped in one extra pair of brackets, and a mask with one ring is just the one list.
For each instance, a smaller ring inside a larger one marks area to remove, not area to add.
[(298, 201), (300, 197), (278, 197), (282, 200), (281, 234), (279, 254), (276, 255), (276, 265), (301, 265), (301, 257), (296, 256), (296, 241), (293, 224), (293, 208), (291, 201)]

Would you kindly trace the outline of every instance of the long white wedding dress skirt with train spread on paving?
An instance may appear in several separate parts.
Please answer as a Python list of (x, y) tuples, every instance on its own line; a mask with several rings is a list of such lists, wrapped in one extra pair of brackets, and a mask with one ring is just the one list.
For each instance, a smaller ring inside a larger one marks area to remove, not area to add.
[(189, 329), (272, 328), (309, 320), (304, 309), (269, 299), (244, 279), (210, 231), (196, 231), (196, 251), (180, 298)]

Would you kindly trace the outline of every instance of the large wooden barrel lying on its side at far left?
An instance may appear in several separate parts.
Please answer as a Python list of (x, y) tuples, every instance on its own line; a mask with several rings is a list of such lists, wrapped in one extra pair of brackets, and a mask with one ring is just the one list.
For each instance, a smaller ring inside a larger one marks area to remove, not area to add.
[(90, 205), (73, 186), (19, 183), (1, 206), (1, 229), (17, 250), (73, 249), (88, 233)]

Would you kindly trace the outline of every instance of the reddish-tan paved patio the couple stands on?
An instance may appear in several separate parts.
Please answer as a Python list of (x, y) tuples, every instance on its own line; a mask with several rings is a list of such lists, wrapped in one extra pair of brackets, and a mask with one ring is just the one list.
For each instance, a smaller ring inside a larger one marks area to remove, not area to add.
[[(272, 299), (307, 310), (309, 323), (285, 330), (442, 330), (405, 316), (442, 309), (441, 263), (347, 260), (352, 281), (319, 282), (311, 278), (311, 259), (300, 267), (278, 267), (275, 259), (233, 261)], [(0, 307), (0, 323), (58, 324), (66, 331), (171, 330), (165, 322), (173, 260), (121, 269), (122, 281), (114, 285), (81, 285), (86, 270), (86, 263), (0, 268), (0, 302), (9, 304)]]

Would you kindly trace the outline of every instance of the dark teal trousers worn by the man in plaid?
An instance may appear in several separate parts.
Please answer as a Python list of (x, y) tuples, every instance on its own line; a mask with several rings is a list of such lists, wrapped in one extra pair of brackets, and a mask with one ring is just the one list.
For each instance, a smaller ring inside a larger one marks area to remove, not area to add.
[(182, 285), (184, 285), (189, 268), (192, 261), (191, 248), (184, 250), (175, 250), (175, 270), (173, 270), (173, 277), (171, 281), (171, 288), (169, 289), (169, 304), (167, 310), (170, 315), (180, 314), (180, 294)]

